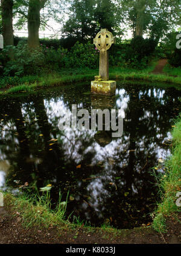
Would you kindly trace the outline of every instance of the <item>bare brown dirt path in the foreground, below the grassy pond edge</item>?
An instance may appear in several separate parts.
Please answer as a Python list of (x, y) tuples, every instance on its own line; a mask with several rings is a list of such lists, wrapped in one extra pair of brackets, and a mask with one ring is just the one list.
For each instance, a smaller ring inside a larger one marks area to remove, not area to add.
[[(88, 229), (77, 227), (31, 227), (22, 226), (21, 215), (0, 207), (0, 244), (181, 244), (181, 224), (168, 221), (168, 232), (159, 234), (152, 227), (122, 230)], [(181, 219), (181, 214), (180, 214)]]

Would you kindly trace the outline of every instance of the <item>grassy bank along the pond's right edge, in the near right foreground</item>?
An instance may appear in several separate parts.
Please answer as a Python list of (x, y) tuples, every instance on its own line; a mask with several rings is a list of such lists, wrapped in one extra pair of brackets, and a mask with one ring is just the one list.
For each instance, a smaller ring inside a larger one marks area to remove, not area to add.
[[(156, 216), (153, 221), (153, 227), (158, 232), (166, 232), (167, 219), (171, 217), (179, 220), (179, 213), (181, 212), (181, 206), (177, 206), (176, 201), (181, 203), (181, 113), (174, 125), (172, 135), (172, 154), (165, 163), (165, 174), (156, 177), (162, 198), (161, 203), (157, 205)], [(155, 169), (159, 168), (160, 166), (155, 167)], [(177, 196), (178, 192), (180, 195)]]

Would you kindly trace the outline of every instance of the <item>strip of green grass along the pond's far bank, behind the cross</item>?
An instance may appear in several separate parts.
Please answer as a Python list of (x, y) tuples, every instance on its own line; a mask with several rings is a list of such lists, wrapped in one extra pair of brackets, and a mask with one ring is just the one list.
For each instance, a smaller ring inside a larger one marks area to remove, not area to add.
[[(156, 83), (170, 83), (180, 86), (181, 76), (154, 75), (156, 62), (142, 70), (127, 69), (123, 67), (110, 68), (110, 79), (139, 80)], [(69, 83), (88, 82), (98, 75), (98, 70), (61, 70), (60, 73), (50, 73), (41, 76), (25, 76), (24, 78), (3, 78), (0, 83), (0, 95), (16, 92), (33, 92), (40, 88), (66, 85)]]

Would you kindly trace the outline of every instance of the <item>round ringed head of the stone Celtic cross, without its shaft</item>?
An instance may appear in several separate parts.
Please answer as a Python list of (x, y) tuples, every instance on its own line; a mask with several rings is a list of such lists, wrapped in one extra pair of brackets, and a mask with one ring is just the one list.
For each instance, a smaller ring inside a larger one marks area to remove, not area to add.
[(97, 33), (94, 39), (94, 44), (98, 50), (109, 50), (111, 45), (114, 43), (115, 38), (107, 29), (101, 29), (101, 31)]

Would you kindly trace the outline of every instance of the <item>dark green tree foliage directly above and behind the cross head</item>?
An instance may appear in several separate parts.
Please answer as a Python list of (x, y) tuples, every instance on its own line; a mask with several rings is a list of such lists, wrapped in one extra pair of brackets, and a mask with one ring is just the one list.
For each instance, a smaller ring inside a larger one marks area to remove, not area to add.
[(63, 25), (63, 36), (83, 42), (94, 38), (100, 29), (113, 32), (115, 27), (119, 27), (119, 17), (113, 1), (74, 0), (69, 7), (69, 19)]

